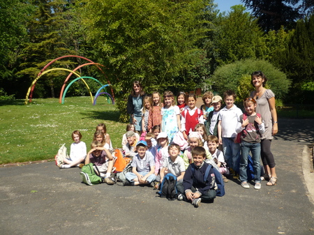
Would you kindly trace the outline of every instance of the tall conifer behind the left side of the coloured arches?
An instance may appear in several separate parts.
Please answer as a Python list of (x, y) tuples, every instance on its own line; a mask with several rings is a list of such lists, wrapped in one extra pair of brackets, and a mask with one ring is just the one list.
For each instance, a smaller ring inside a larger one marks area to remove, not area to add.
[[(36, 12), (32, 15), (31, 20), (27, 24), (28, 41), (25, 43), (19, 59), (20, 71), (17, 73), (17, 79), (24, 84), (22, 86), (23, 95), (33, 79), (36, 78), (40, 69), (47, 63), (59, 56), (66, 54), (75, 54), (73, 50), (66, 47), (63, 32), (68, 20), (63, 17), (63, 11), (68, 2), (63, 0), (33, 0), (36, 6)], [(71, 61), (57, 61), (54, 65), (68, 66)], [(40, 97), (54, 97), (55, 82), (61, 86), (62, 79), (66, 73), (54, 71), (47, 73), (40, 78), (39, 84), (36, 85), (36, 93)], [(49, 91), (50, 88), (50, 93)]]

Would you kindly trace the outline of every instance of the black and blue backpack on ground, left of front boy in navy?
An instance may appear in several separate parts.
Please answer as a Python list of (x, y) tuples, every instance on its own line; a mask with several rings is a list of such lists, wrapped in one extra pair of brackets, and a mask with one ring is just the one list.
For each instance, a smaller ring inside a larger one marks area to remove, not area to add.
[(173, 201), (177, 198), (177, 176), (168, 173), (163, 178), (163, 182), (160, 185), (160, 191), (157, 192), (160, 197), (166, 197), (168, 200)]

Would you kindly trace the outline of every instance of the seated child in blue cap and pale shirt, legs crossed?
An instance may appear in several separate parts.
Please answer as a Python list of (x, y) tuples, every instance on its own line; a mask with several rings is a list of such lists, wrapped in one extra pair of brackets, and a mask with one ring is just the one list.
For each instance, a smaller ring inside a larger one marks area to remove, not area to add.
[(132, 172), (126, 173), (124, 185), (149, 184), (156, 179), (154, 157), (147, 151), (147, 143), (143, 140), (136, 144), (137, 154), (131, 163)]

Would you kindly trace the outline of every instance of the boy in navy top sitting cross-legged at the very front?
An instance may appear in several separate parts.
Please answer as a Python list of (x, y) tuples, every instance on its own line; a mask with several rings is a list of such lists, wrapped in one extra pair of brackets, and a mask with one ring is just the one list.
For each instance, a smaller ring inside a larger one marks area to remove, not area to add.
[[(192, 151), (193, 163), (188, 166), (184, 174), (184, 191), (178, 192), (178, 200), (192, 202), (195, 207), (200, 206), (200, 202), (214, 202), (216, 197), (214, 169), (206, 171), (209, 165), (204, 161), (206, 151), (203, 147), (197, 146)], [(204, 176), (207, 179), (204, 181)]]

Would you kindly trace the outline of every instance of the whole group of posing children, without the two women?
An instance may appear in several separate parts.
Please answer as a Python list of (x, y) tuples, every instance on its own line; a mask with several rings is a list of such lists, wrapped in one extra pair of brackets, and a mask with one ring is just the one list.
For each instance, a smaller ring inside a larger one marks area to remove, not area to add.
[[(235, 98), (233, 91), (225, 91), (223, 98), (206, 92), (202, 97), (204, 105), (199, 109), (194, 94), (179, 93), (177, 105), (171, 91), (163, 93), (163, 104), (158, 92), (144, 96), (142, 132), (137, 133), (133, 123), (129, 123), (122, 138), (124, 156), (132, 159), (132, 171), (126, 173), (124, 185), (150, 184), (158, 189), (165, 175), (171, 173), (177, 176), (177, 198), (197, 207), (201, 201), (212, 202), (216, 197), (212, 171), (220, 172), (225, 183), (228, 181), (225, 176), (233, 174), (234, 179), (239, 177), (242, 187), (250, 187), (246, 168), (251, 151), (255, 189), (260, 189), (259, 143), (264, 123), (255, 113), (253, 98), (244, 100), (245, 114), (234, 105)], [(225, 107), (221, 108), (223, 100)], [(70, 158), (60, 168), (76, 166), (86, 156), (80, 132), (73, 132), (72, 137), (75, 143), (71, 145)], [(114, 172), (110, 149), (110, 137), (105, 125), (100, 124), (84, 163), (97, 165), (107, 184), (114, 183), (110, 178)], [(208, 179), (203, 179), (209, 165), (212, 167)]]

